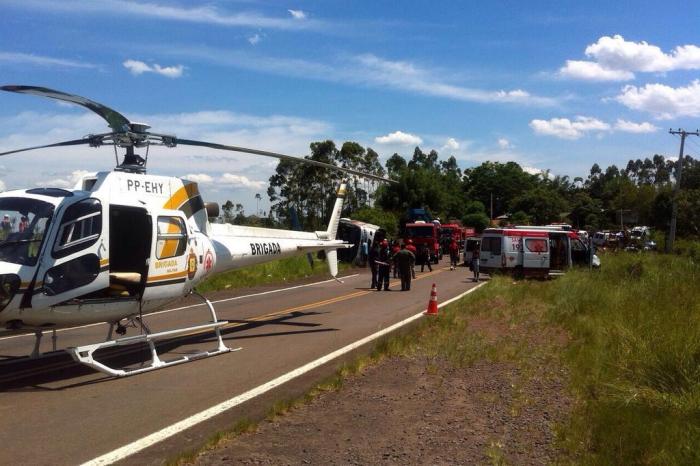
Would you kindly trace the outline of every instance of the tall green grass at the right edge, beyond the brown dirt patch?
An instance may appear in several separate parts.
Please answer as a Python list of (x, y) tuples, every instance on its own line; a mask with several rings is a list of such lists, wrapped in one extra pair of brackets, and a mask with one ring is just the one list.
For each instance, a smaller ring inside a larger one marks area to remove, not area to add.
[(580, 403), (562, 439), (585, 464), (700, 463), (700, 267), (690, 257), (607, 254), (546, 299), (573, 341)]

